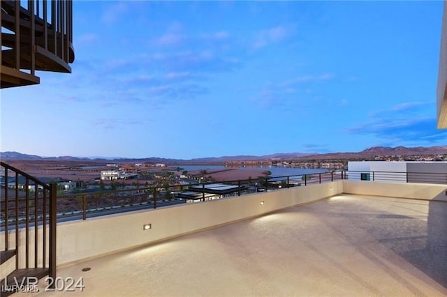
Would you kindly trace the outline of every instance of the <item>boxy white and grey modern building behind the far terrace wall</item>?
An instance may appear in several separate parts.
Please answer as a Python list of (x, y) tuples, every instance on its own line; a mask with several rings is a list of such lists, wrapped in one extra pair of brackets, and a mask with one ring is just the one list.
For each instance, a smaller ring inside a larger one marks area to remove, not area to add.
[(358, 181), (447, 183), (447, 162), (348, 162), (348, 178)]

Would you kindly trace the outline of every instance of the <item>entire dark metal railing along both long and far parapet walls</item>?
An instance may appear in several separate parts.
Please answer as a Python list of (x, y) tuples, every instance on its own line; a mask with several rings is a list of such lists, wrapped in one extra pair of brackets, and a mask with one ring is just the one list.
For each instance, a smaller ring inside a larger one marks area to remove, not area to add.
[[(58, 195), (57, 220), (87, 220), (87, 218), (112, 213), (159, 208), (193, 201), (240, 197), (255, 192), (282, 190), (341, 179), (447, 184), (447, 173), (330, 171), (291, 176), (265, 176), (221, 183), (198, 182), (188, 185), (152, 186), (126, 185), (124, 186), (126, 188), (122, 189), (119, 189), (118, 186), (117, 190), (97, 190)], [(231, 187), (229, 188), (229, 186)], [(189, 192), (189, 195), (182, 195), (182, 192)], [(26, 208), (25, 200), (24, 198), (19, 199), (19, 209)], [(24, 211), (26, 212), (26, 210)], [(10, 220), (10, 222), (13, 221)], [(24, 217), (19, 218), (19, 224), (25, 223)], [(0, 220), (0, 227), (3, 226), (4, 220)]]

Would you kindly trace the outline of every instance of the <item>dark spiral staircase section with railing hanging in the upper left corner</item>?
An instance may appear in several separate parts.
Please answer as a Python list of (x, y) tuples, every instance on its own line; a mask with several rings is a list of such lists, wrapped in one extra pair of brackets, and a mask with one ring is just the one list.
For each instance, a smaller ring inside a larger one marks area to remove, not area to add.
[(71, 0), (1, 1), (1, 88), (39, 84), (36, 70), (71, 73), (72, 6)]

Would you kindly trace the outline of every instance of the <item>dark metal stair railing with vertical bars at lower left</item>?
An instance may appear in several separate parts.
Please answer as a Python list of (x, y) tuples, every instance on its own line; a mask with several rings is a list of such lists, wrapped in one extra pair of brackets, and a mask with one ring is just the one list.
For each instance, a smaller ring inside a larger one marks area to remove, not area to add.
[[(3, 252), (15, 254), (15, 269), (47, 268), (56, 277), (56, 185), (47, 185), (19, 169), (0, 162), (0, 217)], [(34, 190), (33, 190), (34, 189)], [(42, 229), (39, 231), (39, 226)], [(34, 231), (34, 236), (31, 236)], [(24, 243), (20, 233), (24, 232)], [(10, 242), (13, 234), (14, 243)], [(31, 238), (34, 237), (34, 238)], [(24, 252), (20, 250), (24, 248)], [(24, 254), (24, 267), (20, 257)], [(34, 261), (31, 261), (34, 260)], [(33, 262), (33, 263), (31, 263)]]

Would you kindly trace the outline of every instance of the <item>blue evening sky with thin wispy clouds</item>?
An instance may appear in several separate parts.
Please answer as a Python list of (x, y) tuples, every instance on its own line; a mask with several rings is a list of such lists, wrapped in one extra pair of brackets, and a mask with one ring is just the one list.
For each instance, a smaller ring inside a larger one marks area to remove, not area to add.
[(73, 73), (1, 90), (1, 151), (200, 158), (447, 145), (442, 1), (74, 1)]

